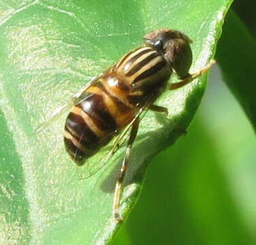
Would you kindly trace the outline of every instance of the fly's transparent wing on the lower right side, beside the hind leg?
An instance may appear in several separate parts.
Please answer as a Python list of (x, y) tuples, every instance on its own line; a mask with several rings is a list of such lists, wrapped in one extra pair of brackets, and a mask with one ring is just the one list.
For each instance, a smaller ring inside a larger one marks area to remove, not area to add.
[(82, 166), (76, 166), (76, 171), (80, 179), (85, 179), (93, 176), (93, 174), (96, 174), (99, 169), (101, 169), (108, 161), (111, 159), (111, 157), (114, 156), (116, 151), (123, 146), (123, 144), (126, 142), (127, 138), (129, 137), (129, 132), (131, 129), (131, 125), (133, 125), (133, 122), (140, 117), (142, 119), (146, 112), (148, 111), (148, 106), (155, 101), (155, 97), (152, 97), (148, 100), (148, 103), (144, 105), (140, 110), (138, 110), (137, 114), (131, 120), (129, 125), (127, 125), (116, 137), (114, 137), (110, 143), (108, 143), (107, 146), (103, 146), (95, 156), (89, 158), (86, 160), (84, 165)]

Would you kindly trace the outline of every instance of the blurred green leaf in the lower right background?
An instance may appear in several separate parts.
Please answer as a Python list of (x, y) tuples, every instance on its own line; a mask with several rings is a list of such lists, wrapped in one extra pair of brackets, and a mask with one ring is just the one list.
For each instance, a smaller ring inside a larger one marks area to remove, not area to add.
[(256, 244), (255, 150), (253, 128), (216, 66), (187, 135), (148, 166), (114, 244), (127, 236), (131, 245)]

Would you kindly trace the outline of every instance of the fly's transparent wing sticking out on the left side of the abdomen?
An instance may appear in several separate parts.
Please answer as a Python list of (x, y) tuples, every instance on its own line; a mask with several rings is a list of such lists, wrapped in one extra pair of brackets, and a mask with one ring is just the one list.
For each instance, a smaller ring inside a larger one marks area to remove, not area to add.
[(76, 104), (80, 103), (81, 101), (83, 101), (84, 99), (86, 99), (83, 92), (86, 91), (86, 89), (89, 88), (89, 86), (92, 86), (95, 82), (97, 82), (97, 80), (99, 80), (101, 75), (97, 76), (90, 82), (87, 82), (82, 88), (80, 88), (80, 90), (77, 93), (75, 93), (74, 95), (71, 96), (71, 99), (69, 101), (67, 101), (67, 103), (65, 103), (65, 105), (62, 105), (61, 107), (57, 108), (52, 113), (50, 118), (48, 118), (45, 122), (43, 122), (42, 125), (39, 125), (39, 127), (37, 127), (37, 129), (35, 129), (35, 131), (33, 133), (39, 133), (39, 132), (43, 131), (44, 129), (46, 129), (46, 127), (51, 125), (52, 122), (57, 120), (65, 112), (67, 112), (68, 110), (71, 110), (71, 108), (74, 105), (76, 105)]

